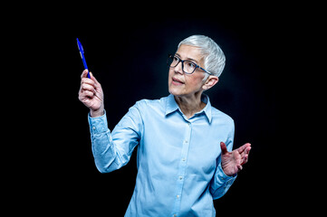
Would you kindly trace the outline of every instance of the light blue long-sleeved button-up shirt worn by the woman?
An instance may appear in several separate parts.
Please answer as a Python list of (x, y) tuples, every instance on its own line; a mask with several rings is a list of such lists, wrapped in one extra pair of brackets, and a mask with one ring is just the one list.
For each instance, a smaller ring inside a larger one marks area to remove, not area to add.
[[(138, 148), (138, 175), (125, 216), (216, 216), (213, 200), (236, 179), (221, 167), (220, 142), (231, 151), (234, 121), (207, 105), (192, 118), (173, 95), (138, 101), (108, 129), (106, 115), (89, 116), (92, 153), (101, 173), (119, 169)], [(114, 188), (114, 186), (112, 186)]]

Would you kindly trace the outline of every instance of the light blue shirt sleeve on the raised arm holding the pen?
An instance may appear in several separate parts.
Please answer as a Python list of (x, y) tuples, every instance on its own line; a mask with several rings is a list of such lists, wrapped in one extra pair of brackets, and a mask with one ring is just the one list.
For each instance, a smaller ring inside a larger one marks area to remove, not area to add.
[(89, 114), (92, 154), (101, 173), (110, 173), (126, 165), (135, 146), (138, 146), (142, 118), (137, 104), (129, 109), (112, 132), (108, 128), (106, 112), (97, 118), (91, 118)]

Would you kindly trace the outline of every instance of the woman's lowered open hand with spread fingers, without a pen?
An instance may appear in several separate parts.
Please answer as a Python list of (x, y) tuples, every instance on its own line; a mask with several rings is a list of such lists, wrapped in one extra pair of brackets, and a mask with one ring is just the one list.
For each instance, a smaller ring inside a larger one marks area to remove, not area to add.
[(220, 142), (221, 147), (221, 166), (223, 167), (226, 175), (235, 175), (237, 172), (242, 170), (251, 150), (251, 144), (246, 143), (244, 146), (233, 150), (232, 152), (227, 151), (225, 143)]

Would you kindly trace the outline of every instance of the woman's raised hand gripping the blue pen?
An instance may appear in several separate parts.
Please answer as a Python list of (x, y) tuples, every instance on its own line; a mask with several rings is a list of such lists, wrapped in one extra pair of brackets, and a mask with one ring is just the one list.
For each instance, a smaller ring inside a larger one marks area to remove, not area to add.
[(78, 93), (78, 99), (90, 109), (91, 117), (99, 117), (104, 113), (103, 91), (101, 84), (90, 72), (91, 79), (87, 78), (87, 70), (81, 75), (81, 88)]

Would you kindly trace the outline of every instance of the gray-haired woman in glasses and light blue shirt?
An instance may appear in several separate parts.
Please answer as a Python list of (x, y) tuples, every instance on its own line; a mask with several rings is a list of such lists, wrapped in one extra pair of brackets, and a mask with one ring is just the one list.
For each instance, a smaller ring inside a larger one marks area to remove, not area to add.
[(79, 99), (90, 109), (95, 164), (109, 173), (126, 165), (138, 148), (138, 175), (125, 216), (216, 216), (213, 200), (233, 184), (251, 149), (246, 143), (232, 151), (234, 121), (203, 93), (218, 82), (225, 55), (209, 37), (193, 35), (168, 56), (168, 66), (170, 95), (138, 101), (112, 132), (101, 84), (82, 72)]

